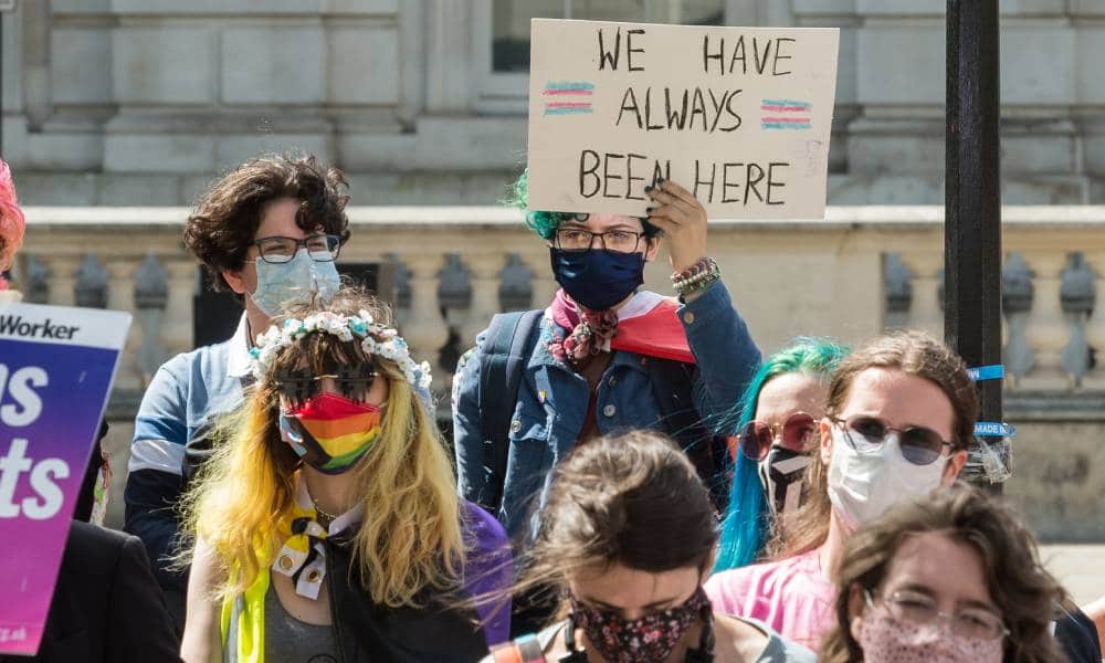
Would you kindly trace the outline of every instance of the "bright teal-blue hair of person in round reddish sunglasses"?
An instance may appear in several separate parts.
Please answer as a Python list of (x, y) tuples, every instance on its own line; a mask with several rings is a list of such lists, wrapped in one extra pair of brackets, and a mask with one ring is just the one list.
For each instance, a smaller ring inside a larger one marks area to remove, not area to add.
[[(772, 378), (790, 372), (806, 372), (828, 380), (829, 373), (836, 369), (849, 351), (830, 339), (800, 337), (768, 357), (740, 398), (737, 430), (756, 418), (760, 391)], [(771, 527), (771, 512), (756, 461), (749, 460), (739, 450), (735, 455), (733, 487), (729, 506), (722, 522), (722, 540), (717, 562), (714, 565), (715, 572), (756, 561), (762, 554)]]

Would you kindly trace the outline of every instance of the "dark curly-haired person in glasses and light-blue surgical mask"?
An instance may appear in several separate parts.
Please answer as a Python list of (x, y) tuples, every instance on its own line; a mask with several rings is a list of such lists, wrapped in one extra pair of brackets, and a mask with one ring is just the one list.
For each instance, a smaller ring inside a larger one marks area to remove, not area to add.
[(240, 295), (244, 312), (227, 341), (166, 361), (135, 419), (124, 529), (146, 545), (178, 630), (187, 576), (169, 560), (180, 494), (209, 453), (212, 417), (242, 401), (256, 335), (285, 306), (337, 290), (334, 261), (349, 239), (344, 188), (341, 173), (314, 157), (263, 157), (214, 183), (185, 223), (185, 245), (215, 290)]

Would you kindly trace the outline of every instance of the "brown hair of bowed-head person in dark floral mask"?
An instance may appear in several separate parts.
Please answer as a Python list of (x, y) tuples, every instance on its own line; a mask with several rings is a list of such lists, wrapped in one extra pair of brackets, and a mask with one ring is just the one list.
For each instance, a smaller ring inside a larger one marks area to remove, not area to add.
[(709, 493), (667, 436), (599, 438), (557, 466), (515, 592), (538, 589), (551, 602), (567, 596), (569, 576), (619, 564), (650, 573), (705, 570), (717, 536)]

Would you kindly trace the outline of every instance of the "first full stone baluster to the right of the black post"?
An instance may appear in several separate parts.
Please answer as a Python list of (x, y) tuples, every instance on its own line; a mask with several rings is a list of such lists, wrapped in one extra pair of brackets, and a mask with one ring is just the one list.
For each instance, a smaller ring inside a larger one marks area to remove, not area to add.
[(1035, 365), (1022, 385), (1025, 389), (1062, 390), (1067, 387), (1061, 358), (1067, 328), (1060, 286), (1066, 256), (1059, 252), (1025, 251), (1024, 257), (1035, 274), (1035, 297), (1025, 327), (1025, 336), (1035, 352)]

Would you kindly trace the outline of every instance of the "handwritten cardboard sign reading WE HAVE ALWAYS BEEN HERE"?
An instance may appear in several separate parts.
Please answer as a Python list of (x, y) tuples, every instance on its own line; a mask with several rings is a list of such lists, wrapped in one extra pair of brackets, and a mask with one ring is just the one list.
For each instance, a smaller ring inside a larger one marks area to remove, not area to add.
[(712, 218), (823, 219), (839, 39), (534, 19), (529, 209), (643, 217), (663, 177)]

